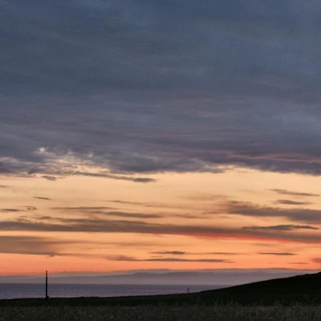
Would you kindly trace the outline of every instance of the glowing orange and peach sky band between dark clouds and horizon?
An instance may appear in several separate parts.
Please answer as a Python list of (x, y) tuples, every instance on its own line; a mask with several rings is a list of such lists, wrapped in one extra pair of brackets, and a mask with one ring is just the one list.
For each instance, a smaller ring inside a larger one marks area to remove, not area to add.
[(243, 168), (148, 177), (2, 176), (0, 275), (320, 268), (321, 226), (295, 212), (321, 210), (319, 178)]

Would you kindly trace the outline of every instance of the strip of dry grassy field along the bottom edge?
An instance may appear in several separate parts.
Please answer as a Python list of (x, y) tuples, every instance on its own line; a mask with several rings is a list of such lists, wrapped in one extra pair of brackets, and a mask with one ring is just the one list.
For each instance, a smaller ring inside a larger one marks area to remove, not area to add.
[(1, 321), (317, 321), (321, 306), (42, 306), (0, 307)]

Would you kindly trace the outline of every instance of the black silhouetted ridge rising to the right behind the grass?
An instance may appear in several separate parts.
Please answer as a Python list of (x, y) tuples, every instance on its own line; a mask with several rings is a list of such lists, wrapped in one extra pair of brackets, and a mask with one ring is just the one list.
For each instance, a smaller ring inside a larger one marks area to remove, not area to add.
[(241, 305), (305, 305), (321, 304), (321, 272), (282, 279), (255, 282), (225, 289), (177, 295), (148, 295), (132, 297), (72, 297), (44, 299), (0, 300), (0, 306), (39, 305), (192, 305), (228, 304)]

